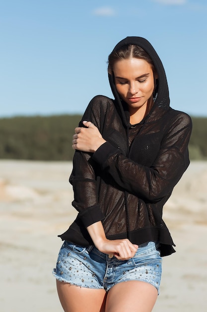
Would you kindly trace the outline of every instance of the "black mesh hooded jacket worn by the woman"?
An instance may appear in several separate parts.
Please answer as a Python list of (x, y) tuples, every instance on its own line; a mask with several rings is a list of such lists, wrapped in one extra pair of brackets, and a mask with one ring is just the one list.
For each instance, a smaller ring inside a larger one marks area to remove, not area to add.
[(191, 118), (170, 108), (165, 71), (151, 44), (127, 37), (122, 45), (136, 44), (151, 57), (158, 79), (154, 104), (137, 125), (130, 125), (127, 105), (109, 82), (115, 100), (94, 97), (79, 124), (91, 121), (107, 141), (94, 154), (76, 151), (69, 181), (77, 218), (62, 235), (81, 246), (93, 245), (86, 227), (102, 220), (108, 239), (128, 238), (134, 244), (160, 243), (161, 256), (175, 246), (162, 220), (162, 209), (189, 165)]

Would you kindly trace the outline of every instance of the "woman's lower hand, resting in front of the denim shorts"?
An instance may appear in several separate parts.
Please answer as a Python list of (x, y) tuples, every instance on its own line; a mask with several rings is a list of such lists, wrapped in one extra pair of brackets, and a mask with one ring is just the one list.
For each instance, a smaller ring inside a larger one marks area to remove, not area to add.
[(138, 250), (138, 245), (132, 244), (129, 239), (104, 240), (96, 246), (100, 252), (114, 256), (118, 260), (133, 258)]

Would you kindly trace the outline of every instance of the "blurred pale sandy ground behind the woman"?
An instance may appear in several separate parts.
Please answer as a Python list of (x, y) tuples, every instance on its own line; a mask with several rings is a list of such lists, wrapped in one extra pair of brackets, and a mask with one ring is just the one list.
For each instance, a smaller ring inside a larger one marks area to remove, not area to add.
[[(70, 162), (0, 160), (0, 311), (62, 312), (52, 269), (71, 206)], [(176, 253), (153, 312), (207, 311), (207, 162), (192, 162), (164, 207)]]

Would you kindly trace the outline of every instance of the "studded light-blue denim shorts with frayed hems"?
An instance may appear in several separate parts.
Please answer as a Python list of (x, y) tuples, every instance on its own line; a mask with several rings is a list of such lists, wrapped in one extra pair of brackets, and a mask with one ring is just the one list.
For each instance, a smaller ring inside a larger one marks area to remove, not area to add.
[(120, 282), (142, 281), (153, 285), (159, 294), (162, 258), (158, 246), (154, 242), (141, 244), (133, 258), (122, 261), (109, 258), (95, 246), (81, 247), (65, 241), (53, 275), (61, 282), (106, 292)]

